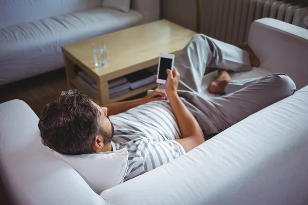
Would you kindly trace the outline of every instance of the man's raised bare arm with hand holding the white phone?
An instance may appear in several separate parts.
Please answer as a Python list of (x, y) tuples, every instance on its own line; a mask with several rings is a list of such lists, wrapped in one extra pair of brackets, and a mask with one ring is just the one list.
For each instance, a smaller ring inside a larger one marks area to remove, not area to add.
[(171, 72), (167, 70), (168, 78), (166, 80), (166, 93), (168, 95), (172, 111), (174, 112), (183, 139), (176, 139), (186, 152), (201, 145), (205, 140), (202, 135), (201, 128), (195, 117), (189, 112), (187, 107), (180, 99), (177, 89), (179, 85), (180, 74), (177, 69)]

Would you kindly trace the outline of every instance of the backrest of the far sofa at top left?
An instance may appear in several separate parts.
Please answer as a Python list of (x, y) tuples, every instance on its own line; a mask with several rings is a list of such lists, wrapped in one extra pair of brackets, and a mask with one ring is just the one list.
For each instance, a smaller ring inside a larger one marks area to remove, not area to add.
[(102, 0), (1, 0), (0, 28), (96, 7)]

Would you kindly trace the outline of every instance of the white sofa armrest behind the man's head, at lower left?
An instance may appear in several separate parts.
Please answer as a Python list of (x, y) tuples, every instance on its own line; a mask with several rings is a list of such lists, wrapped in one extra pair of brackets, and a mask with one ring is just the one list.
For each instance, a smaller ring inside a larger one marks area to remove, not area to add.
[(42, 144), (37, 124), (24, 101), (0, 104), (0, 176), (12, 204), (107, 204)]

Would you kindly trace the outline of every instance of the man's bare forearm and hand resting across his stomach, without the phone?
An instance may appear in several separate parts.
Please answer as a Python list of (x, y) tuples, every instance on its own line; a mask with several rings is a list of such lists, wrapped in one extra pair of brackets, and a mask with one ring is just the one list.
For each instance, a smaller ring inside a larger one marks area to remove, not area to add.
[(116, 115), (122, 112), (125, 112), (131, 108), (149, 103), (150, 101), (155, 100), (164, 100), (167, 99), (166, 92), (164, 90), (155, 89), (153, 92), (148, 94), (147, 96), (119, 103), (111, 103), (107, 105), (103, 105), (102, 107), (108, 108), (108, 115)]

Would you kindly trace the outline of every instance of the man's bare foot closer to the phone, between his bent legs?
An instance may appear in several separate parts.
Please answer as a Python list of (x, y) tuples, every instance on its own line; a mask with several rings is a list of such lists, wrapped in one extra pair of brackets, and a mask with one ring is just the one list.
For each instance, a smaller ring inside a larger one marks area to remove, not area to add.
[(211, 82), (208, 86), (208, 92), (214, 94), (224, 93), (224, 89), (230, 83), (231, 78), (226, 70), (219, 70), (216, 80)]

